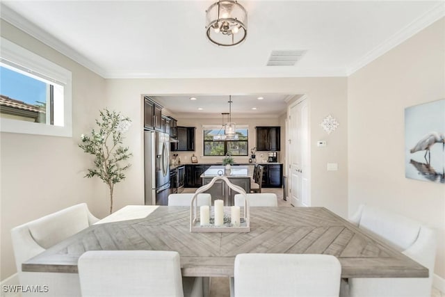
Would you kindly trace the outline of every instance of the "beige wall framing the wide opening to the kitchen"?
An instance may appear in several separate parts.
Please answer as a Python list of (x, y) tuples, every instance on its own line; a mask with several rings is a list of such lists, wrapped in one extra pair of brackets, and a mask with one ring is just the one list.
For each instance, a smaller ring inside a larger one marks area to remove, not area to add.
[[(306, 94), (309, 98), (312, 204), (325, 206), (346, 216), (347, 209), (347, 79), (346, 78), (277, 78), (277, 79), (108, 79), (108, 104), (133, 120), (127, 143), (133, 152), (127, 180), (115, 188), (116, 209), (126, 204), (143, 204), (143, 117), (141, 94), (249, 94), (282, 93)], [(337, 131), (329, 136), (319, 126), (331, 114), (340, 122)], [(266, 120), (266, 119), (265, 119)], [(280, 125), (280, 118), (276, 118)], [(281, 120), (282, 122), (283, 120)], [(219, 119), (216, 121), (219, 124)], [(180, 119), (180, 125), (187, 125)], [(284, 136), (283, 136), (284, 137)], [(314, 145), (324, 139), (327, 147)], [(251, 145), (250, 145), (251, 147)], [(201, 149), (202, 150), (202, 149)], [(191, 155), (191, 154), (188, 154)], [(338, 171), (326, 170), (327, 162), (339, 163)]]

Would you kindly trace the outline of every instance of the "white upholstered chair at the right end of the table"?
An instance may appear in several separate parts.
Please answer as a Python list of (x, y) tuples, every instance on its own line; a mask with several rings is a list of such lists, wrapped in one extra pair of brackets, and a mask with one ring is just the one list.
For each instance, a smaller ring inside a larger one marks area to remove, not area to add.
[(350, 278), (341, 296), (431, 296), (436, 255), (435, 231), (422, 223), (377, 207), (360, 205), (350, 221), (391, 243), (403, 254), (429, 270), (428, 278)]

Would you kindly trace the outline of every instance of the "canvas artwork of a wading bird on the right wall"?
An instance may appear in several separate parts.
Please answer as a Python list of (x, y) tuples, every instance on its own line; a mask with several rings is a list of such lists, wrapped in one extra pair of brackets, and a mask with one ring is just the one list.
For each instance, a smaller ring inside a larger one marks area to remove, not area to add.
[(445, 99), (405, 109), (405, 177), (445, 184)]

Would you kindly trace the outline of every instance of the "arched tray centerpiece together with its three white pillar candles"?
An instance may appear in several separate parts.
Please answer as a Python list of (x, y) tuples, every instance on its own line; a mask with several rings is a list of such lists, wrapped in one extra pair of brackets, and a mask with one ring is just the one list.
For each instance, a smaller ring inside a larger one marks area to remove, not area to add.
[[(213, 184), (223, 180), (229, 188), (244, 196), (243, 207), (225, 207), (224, 201), (217, 199), (213, 207), (209, 205), (197, 207), (197, 195), (209, 190)], [(242, 216), (241, 216), (242, 214)], [(213, 177), (209, 184), (198, 188), (191, 200), (190, 209), (190, 231), (191, 232), (250, 232), (249, 205), (247, 194), (240, 186), (230, 182), (227, 177)]]

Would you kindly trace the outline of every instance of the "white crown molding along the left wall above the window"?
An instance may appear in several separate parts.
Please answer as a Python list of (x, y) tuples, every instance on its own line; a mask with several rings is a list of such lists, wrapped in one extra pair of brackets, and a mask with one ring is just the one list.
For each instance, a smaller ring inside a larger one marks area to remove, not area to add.
[(104, 70), (102, 69), (102, 67), (99, 67), (82, 54), (79, 54), (78, 51), (75, 51), (74, 49), (72, 49), (72, 47), (69, 47), (65, 43), (55, 38), (53, 35), (47, 33), (47, 31), (40, 29), (40, 27), (38, 26), (35, 26), (35, 24), (22, 17), (22, 15), (19, 15), (14, 10), (8, 8), (8, 6), (4, 5), (3, 3), (0, 3), (0, 17), (6, 22), (17, 27), (18, 29), (31, 35), (33, 38), (39, 40), (40, 42), (43, 42), (45, 45), (56, 49), (56, 51), (60, 52), (60, 54), (71, 58), (72, 60), (83, 65), (92, 72), (95, 72), (99, 76), (104, 77)]

